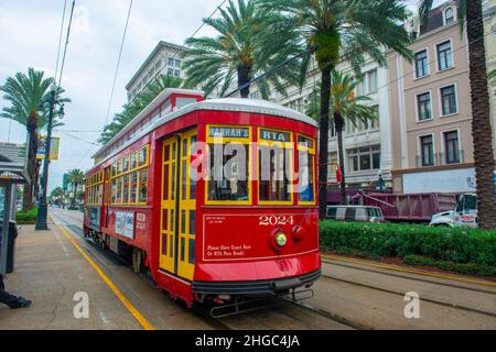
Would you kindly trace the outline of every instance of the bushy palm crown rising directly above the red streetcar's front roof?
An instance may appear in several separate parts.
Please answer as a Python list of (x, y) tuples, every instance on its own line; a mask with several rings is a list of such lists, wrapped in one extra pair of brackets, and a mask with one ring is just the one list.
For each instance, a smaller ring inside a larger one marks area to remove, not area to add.
[[(217, 19), (204, 19), (213, 28), (216, 37), (190, 37), (182, 53), (185, 62), (187, 81), (202, 86), (208, 96), (215, 88), (224, 96), (237, 80), (238, 87), (248, 84), (256, 75), (284, 62), (302, 52), (301, 47), (290, 45), (296, 41), (291, 23), (270, 10), (262, 9), (255, 1), (229, 0), (226, 9), (219, 9)], [(284, 82), (300, 85), (300, 69), (296, 62), (269, 74), (259, 82), (263, 99), (273, 88), (285, 95)], [(240, 89), (241, 98), (248, 98), (250, 86)]]

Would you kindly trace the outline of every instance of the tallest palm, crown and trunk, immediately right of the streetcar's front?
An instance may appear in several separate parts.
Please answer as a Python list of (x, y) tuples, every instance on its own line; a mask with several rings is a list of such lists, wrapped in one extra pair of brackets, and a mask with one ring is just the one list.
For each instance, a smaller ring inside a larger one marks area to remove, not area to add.
[[(258, 0), (266, 9), (282, 13), (285, 23), (293, 23), (302, 41), (293, 45), (317, 45), (315, 59), (321, 72), (321, 119), (319, 146), (320, 217), (326, 211), (328, 120), (331, 73), (347, 61), (359, 75), (365, 54), (386, 66), (385, 48), (412, 58), (408, 48), (411, 36), (402, 23), (408, 11), (401, 0)], [(304, 63), (306, 66), (309, 61)], [(308, 67), (303, 67), (306, 70)], [(341, 165), (343, 168), (343, 165)]]

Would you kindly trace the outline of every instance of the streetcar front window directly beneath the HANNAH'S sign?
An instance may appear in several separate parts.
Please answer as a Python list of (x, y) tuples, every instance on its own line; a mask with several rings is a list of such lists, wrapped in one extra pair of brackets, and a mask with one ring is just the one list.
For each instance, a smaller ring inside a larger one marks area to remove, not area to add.
[[(247, 144), (209, 144), (208, 200), (247, 201), (249, 194)], [(223, 152), (224, 151), (224, 152)], [(220, 154), (220, 156), (215, 156)], [(227, 155), (226, 155), (227, 154)], [(241, 155), (244, 154), (244, 155)], [(217, 157), (217, 158), (216, 158)], [(216, 165), (217, 164), (217, 165)]]

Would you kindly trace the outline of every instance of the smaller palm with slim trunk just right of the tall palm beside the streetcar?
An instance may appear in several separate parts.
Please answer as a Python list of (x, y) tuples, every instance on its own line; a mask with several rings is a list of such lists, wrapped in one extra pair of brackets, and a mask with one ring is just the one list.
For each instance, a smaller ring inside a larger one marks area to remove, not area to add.
[[(343, 74), (338, 70), (333, 70), (331, 74), (331, 106), (328, 119), (334, 123), (334, 129), (337, 134), (337, 150), (339, 160), (339, 169), (342, 175), (341, 180), (341, 201), (346, 204), (346, 178), (344, 168), (344, 145), (343, 145), (343, 130), (345, 123), (352, 123), (358, 127), (358, 122), (368, 124), (370, 121), (378, 119), (377, 109), (367, 106), (371, 101), (369, 97), (356, 96), (356, 86), (358, 81), (353, 78), (352, 74)], [(309, 96), (309, 102), (305, 107), (305, 113), (316, 120), (320, 119), (320, 106), (316, 97), (320, 91), (312, 92)]]

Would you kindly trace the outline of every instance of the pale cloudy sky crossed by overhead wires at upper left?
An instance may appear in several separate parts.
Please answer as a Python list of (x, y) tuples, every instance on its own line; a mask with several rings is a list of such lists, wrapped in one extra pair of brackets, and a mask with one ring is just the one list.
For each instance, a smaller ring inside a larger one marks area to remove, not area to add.
[[(408, 1), (416, 3), (417, 0)], [(159, 41), (183, 44), (222, 0), (133, 0), (110, 117), (126, 102), (126, 84)], [(67, 0), (66, 21), (72, 0)], [(64, 0), (0, 0), (0, 85), (28, 67), (54, 76)], [(106, 124), (107, 108), (129, 0), (76, 0), (62, 87), (72, 99), (65, 106), (60, 158), (51, 163), (48, 190), (63, 174), (91, 166), (90, 156)], [(65, 40), (64, 30), (64, 40)], [(204, 26), (196, 36), (214, 35)], [(0, 97), (0, 109), (7, 106)], [(0, 119), (0, 141), (25, 143), (25, 128)]]

